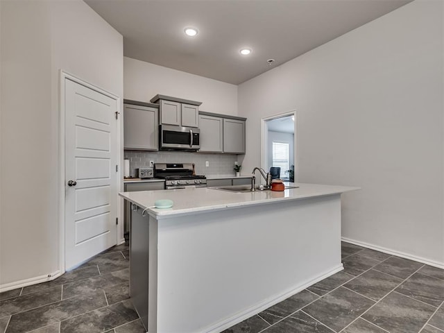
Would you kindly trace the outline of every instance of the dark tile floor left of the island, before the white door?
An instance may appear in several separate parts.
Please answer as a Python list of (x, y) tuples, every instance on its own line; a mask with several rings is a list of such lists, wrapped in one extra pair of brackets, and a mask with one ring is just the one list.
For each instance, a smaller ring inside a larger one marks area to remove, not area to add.
[(0, 333), (142, 333), (128, 299), (128, 244), (56, 280), (0, 293)]

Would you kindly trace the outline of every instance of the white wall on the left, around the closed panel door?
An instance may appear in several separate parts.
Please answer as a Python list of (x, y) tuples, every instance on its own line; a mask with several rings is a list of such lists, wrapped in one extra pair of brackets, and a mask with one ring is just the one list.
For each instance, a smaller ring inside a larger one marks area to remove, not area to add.
[(0, 287), (60, 264), (59, 69), (123, 96), (123, 42), (83, 1), (0, 1)]

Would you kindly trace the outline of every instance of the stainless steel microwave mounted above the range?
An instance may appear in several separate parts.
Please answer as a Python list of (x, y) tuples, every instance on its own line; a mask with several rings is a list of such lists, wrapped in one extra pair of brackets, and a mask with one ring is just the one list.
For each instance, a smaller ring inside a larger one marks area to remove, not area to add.
[(197, 151), (200, 148), (198, 128), (160, 125), (159, 136), (159, 148), (162, 150)]

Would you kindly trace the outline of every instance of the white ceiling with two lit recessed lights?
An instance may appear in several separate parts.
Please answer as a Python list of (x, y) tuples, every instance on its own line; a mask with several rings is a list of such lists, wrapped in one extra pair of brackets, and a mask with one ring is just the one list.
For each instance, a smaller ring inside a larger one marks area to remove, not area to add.
[(123, 35), (124, 56), (235, 85), (410, 1), (85, 0)]

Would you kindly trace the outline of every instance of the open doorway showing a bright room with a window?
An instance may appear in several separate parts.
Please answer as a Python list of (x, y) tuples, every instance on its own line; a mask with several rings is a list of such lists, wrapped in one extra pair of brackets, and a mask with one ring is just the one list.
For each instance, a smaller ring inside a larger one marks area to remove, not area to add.
[[(295, 182), (296, 170), (296, 112), (262, 119), (262, 166), (273, 167), (278, 177)], [(279, 168), (279, 169), (276, 169)]]

